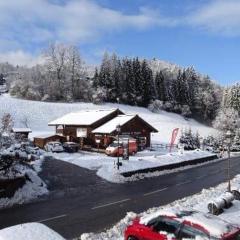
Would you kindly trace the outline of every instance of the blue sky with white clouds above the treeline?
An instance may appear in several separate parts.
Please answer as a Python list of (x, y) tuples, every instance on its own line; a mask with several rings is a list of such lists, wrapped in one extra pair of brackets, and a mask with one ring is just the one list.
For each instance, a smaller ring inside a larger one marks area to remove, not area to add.
[(51, 42), (159, 58), (240, 80), (240, 0), (0, 0), (0, 61), (33, 65)]

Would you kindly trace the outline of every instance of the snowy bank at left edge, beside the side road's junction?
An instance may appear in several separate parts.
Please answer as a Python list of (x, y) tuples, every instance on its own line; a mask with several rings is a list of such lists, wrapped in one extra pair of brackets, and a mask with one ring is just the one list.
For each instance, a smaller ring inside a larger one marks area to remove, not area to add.
[(27, 203), (48, 193), (46, 184), (38, 176), (38, 172), (41, 171), (42, 161), (36, 160), (32, 163), (34, 170), (24, 165), (17, 165), (15, 167), (21, 175), (27, 174), (31, 181), (26, 181), (23, 187), (19, 188), (12, 198), (0, 198), (0, 208)]

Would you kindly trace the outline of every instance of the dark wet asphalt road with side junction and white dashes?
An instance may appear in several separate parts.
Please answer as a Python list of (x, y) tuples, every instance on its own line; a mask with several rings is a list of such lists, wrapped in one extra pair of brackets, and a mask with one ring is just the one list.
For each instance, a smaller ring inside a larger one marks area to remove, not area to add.
[[(232, 177), (240, 173), (240, 158), (231, 159)], [(41, 222), (65, 238), (109, 228), (126, 215), (142, 212), (215, 186), (226, 180), (227, 161), (191, 168), (126, 184), (112, 184), (66, 162), (44, 162), (41, 177), (50, 194), (35, 202), (0, 211), (0, 228)]]

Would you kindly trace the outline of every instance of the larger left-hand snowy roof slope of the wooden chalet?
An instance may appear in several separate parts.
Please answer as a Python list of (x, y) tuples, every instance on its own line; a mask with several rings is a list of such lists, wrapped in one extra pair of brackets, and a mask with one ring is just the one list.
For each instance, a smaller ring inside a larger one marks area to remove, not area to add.
[(98, 120), (115, 112), (117, 109), (102, 109), (102, 110), (87, 110), (80, 112), (72, 112), (64, 115), (56, 120), (48, 123), (50, 126), (54, 125), (92, 125)]

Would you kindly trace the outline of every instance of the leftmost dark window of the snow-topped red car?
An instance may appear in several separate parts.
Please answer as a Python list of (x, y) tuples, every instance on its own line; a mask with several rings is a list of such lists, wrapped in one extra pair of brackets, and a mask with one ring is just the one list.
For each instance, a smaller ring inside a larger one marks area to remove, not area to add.
[(160, 217), (152, 223), (152, 226), (156, 232), (167, 232), (176, 235), (180, 223), (167, 217)]

